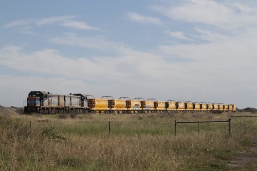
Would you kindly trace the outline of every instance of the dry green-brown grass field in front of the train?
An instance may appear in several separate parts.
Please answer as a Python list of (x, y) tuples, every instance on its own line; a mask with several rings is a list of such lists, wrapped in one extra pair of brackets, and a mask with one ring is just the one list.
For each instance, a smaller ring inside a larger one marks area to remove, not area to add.
[[(233, 170), (229, 164), (247, 150), (254, 132), (228, 123), (222, 113), (6, 115), (0, 114), (1, 170)], [(236, 114), (238, 115), (238, 114)], [(249, 115), (241, 113), (240, 115)], [(251, 114), (254, 115), (254, 114)], [(111, 122), (111, 134), (108, 131)], [(256, 130), (257, 118), (240, 118)], [(30, 128), (31, 122), (31, 128)], [(257, 157), (257, 156), (256, 156)], [(251, 163), (245, 170), (255, 170)]]

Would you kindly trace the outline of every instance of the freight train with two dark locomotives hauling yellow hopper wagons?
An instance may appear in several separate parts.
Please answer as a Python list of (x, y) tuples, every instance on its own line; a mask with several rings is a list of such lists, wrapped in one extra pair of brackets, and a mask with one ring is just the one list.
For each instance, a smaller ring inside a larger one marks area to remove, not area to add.
[(235, 112), (235, 104), (191, 102), (191, 101), (157, 101), (156, 99), (103, 96), (96, 99), (93, 95), (69, 93), (53, 94), (46, 91), (30, 91), (24, 113), (155, 113), (155, 112)]

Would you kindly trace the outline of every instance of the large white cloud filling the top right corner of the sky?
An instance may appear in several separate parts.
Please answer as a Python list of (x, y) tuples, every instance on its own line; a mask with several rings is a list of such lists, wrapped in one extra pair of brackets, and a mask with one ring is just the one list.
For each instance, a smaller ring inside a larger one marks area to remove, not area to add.
[(220, 31), (230, 33), (242, 33), (248, 26), (257, 26), (256, 7), (256, 3), (242, 5), (235, 1), (187, 0), (186, 3), (175, 6), (152, 6), (152, 9), (172, 20), (215, 26)]

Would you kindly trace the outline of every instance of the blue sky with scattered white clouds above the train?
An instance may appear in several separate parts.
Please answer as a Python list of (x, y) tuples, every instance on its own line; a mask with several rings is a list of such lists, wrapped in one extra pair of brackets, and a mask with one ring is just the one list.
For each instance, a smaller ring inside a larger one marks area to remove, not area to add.
[(257, 108), (257, 1), (0, 0), (0, 105), (32, 90)]

